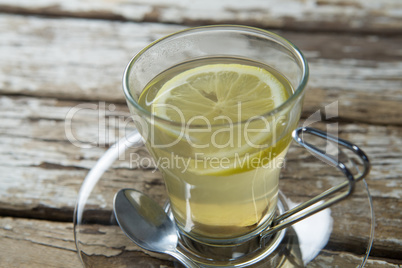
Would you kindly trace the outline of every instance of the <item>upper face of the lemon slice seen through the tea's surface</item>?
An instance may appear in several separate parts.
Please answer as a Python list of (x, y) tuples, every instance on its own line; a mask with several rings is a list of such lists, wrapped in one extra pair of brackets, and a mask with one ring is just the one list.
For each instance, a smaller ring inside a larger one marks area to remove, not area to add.
[(283, 84), (265, 69), (242, 64), (193, 68), (166, 82), (152, 112), (175, 122), (216, 125), (265, 114), (287, 99)]

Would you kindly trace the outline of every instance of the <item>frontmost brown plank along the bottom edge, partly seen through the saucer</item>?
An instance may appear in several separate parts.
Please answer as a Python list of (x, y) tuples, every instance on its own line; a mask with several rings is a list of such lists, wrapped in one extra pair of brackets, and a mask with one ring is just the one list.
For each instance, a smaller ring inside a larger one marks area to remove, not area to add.
[[(71, 223), (0, 218), (1, 267), (80, 267)], [(86, 267), (176, 267), (169, 257), (142, 250), (118, 226), (88, 225), (80, 229)], [(124, 245), (124, 246), (122, 246)], [(16, 254), (19, 252), (19, 254)], [(323, 250), (309, 267), (350, 267), (359, 255)], [(342, 264), (342, 266), (341, 266)], [(392, 260), (369, 259), (368, 268), (396, 268)]]

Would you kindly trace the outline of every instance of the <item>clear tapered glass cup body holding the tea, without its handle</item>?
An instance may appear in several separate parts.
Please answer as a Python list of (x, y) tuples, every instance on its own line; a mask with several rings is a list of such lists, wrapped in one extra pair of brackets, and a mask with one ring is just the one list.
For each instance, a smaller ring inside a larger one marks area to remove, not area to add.
[[(270, 70), (286, 85), (288, 98), (249, 117), (240, 114), (245, 104), (238, 102), (235, 122), (189, 117), (174, 102), (165, 107), (180, 119), (172, 121), (147, 107), (157, 90), (145, 97), (144, 90), (163, 84), (169, 73), (221, 63)], [(186, 29), (155, 41), (130, 61), (123, 78), (127, 103), (163, 174), (184, 237), (207, 245), (238, 245), (272, 223), (279, 173), (307, 80), (308, 65), (299, 49), (274, 33), (244, 26)]]

